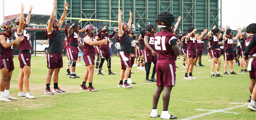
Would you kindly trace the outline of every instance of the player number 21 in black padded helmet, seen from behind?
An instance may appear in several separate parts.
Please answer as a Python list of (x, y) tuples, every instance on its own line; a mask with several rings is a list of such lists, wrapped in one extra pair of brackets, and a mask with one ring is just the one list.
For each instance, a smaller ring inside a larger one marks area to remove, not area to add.
[(158, 28), (162, 31), (154, 35), (154, 46), (158, 52), (158, 61), (156, 63), (156, 90), (153, 94), (153, 106), (150, 117), (155, 118), (160, 115), (157, 113), (157, 104), (160, 95), (163, 92), (163, 111), (160, 116), (162, 119), (176, 119), (168, 113), (170, 102), (170, 92), (175, 86), (176, 65), (175, 60), (180, 54), (179, 47), (176, 43), (178, 39), (174, 34), (174, 16), (169, 12), (162, 12), (155, 18)]

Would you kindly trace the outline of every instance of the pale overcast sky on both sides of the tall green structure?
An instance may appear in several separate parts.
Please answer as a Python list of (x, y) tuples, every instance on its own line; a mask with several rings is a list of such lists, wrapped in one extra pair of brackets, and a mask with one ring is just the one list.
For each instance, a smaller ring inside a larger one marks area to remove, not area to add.
[[(32, 14), (50, 14), (52, 11), (53, 0), (4, 0), (4, 16), (19, 14), (21, 2), (24, 2), (24, 13), (28, 13), (29, 6), (32, 4)], [(0, 23), (3, 21), (3, 0), (0, 0)], [(222, 26), (230, 26), (236, 30), (239, 26), (243, 28), (251, 23), (256, 23), (256, 10), (254, 7), (256, 0), (222, 0)], [(250, 11), (247, 12), (247, 11)], [(250, 17), (248, 17), (250, 16)]]

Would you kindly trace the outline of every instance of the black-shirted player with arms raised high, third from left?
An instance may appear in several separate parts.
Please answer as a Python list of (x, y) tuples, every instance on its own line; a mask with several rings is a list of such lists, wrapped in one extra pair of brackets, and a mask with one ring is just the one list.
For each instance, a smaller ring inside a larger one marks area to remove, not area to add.
[(62, 61), (62, 40), (60, 39), (60, 30), (68, 10), (68, 3), (64, 4), (64, 12), (60, 18), (60, 22), (56, 18), (54, 18), (54, 13), (56, 9), (56, 2), (53, 1), (53, 9), (50, 15), (50, 20), (48, 20), (47, 30), (45, 32), (45, 37), (49, 39), (49, 48), (47, 51), (46, 59), (47, 59), (47, 74), (46, 74), (46, 90), (45, 94), (54, 94), (50, 90), (51, 78), (53, 80), (54, 89), (53, 92), (66, 92), (64, 90), (60, 90), (58, 87), (58, 75), (60, 72), (60, 68), (63, 66)]

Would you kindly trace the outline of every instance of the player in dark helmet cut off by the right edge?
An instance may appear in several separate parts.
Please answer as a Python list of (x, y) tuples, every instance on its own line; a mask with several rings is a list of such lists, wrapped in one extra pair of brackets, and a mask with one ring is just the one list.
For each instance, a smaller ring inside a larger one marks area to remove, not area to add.
[(248, 34), (248, 38), (245, 42), (246, 50), (240, 60), (240, 64), (244, 65), (244, 61), (246, 60), (246, 56), (249, 55), (249, 62), (248, 62), (248, 70), (250, 73), (250, 93), (252, 94), (248, 99), (250, 104), (248, 105), (247, 109), (256, 111), (255, 106), (255, 98), (256, 98), (256, 24), (252, 23), (246, 27), (246, 32)]

